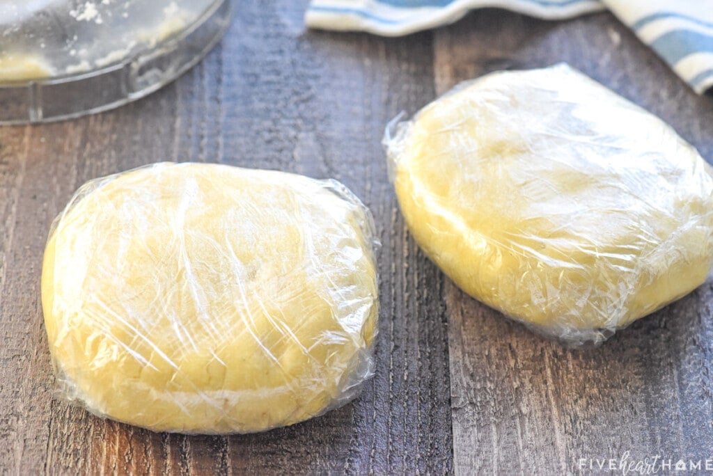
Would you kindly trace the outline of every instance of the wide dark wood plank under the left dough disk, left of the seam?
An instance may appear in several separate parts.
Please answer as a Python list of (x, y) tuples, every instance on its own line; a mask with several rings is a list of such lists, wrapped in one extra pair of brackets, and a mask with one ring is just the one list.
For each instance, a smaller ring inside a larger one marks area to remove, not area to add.
[[(450, 472), (443, 278), (406, 234), (380, 140), (434, 95), (432, 34), (302, 31), (305, 2), (237, 2), (225, 41), (138, 103), (0, 128), (0, 472)], [(84, 181), (160, 160), (334, 177), (376, 217), (376, 376), (354, 403), (257, 435), (156, 434), (52, 398), (39, 275), (51, 219)]]

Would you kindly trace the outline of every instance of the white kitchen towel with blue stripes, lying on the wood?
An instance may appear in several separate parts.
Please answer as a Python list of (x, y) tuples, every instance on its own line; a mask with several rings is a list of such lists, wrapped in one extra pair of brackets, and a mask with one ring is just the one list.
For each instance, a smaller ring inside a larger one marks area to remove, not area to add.
[(713, 87), (713, 0), (312, 0), (310, 28), (401, 36), (499, 7), (556, 20), (610, 9), (699, 94)]

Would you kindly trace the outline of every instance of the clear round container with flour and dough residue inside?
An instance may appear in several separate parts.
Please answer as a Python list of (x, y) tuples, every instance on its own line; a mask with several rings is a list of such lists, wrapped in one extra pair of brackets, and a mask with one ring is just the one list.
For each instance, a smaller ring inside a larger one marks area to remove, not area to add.
[(0, 124), (116, 108), (215, 46), (230, 0), (0, 0)]

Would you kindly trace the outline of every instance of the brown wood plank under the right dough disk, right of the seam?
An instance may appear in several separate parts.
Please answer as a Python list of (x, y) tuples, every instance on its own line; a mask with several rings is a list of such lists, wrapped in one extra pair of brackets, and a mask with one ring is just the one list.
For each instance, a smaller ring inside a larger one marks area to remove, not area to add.
[[(546, 22), (470, 14), (434, 38), (436, 90), (567, 61), (660, 115), (713, 162), (713, 99), (695, 95), (610, 14)], [(713, 447), (711, 284), (568, 350), (446, 282), (458, 474), (578, 472), (579, 458), (704, 460)], [(588, 464), (588, 463), (585, 463)]]

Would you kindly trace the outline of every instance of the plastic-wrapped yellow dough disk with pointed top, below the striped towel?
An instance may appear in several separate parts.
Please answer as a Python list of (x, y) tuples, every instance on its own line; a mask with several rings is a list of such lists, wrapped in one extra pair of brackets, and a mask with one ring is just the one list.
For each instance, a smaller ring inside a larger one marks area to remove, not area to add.
[(463, 83), (384, 142), (426, 254), (466, 293), (550, 336), (602, 341), (711, 266), (709, 165), (569, 66)]

